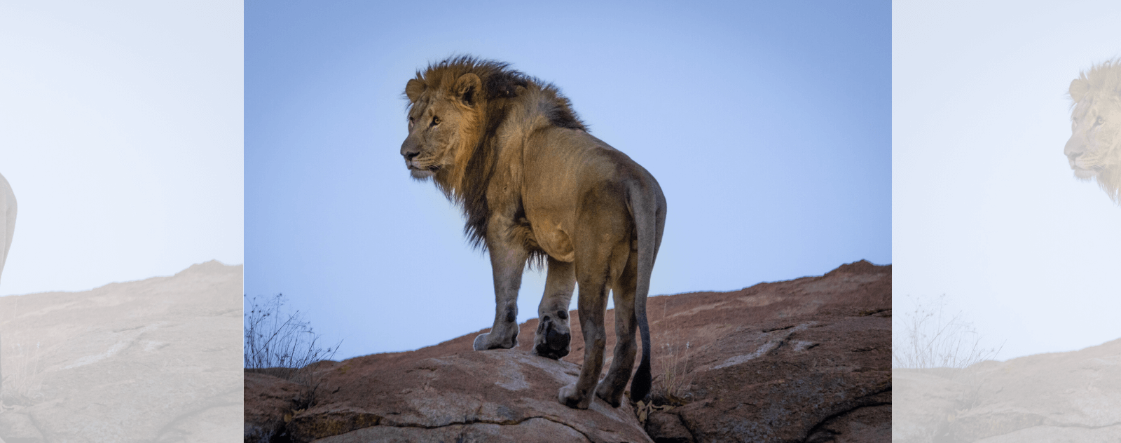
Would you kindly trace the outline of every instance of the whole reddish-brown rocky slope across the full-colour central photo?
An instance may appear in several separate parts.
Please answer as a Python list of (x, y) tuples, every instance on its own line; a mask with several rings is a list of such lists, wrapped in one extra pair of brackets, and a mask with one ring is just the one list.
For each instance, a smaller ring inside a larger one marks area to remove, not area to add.
[[(735, 292), (651, 297), (655, 405), (638, 412), (599, 398), (587, 410), (557, 403), (583, 359), (576, 311), (560, 361), (529, 354), (530, 320), (512, 350), (471, 351), (472, 333), (321, 362), (306, 409), (286, 400), (297, 387), (247, 372), (245, 441), (888, 442), (890, 310), (891, 267), (867, 261)], [(613, 321), (609, 311), (609, 331)], [(609, 334), (609, 358), (613, 345)]]

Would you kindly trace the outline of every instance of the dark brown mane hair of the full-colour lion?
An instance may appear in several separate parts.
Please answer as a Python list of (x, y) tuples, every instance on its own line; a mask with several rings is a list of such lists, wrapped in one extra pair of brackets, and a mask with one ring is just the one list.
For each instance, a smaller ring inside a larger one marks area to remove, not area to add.
[[(520, 92), (536, 86), (544, 95), (544, 100), (537, 103), (536, 109), (552, 126), (582, 131), (587, 131), (587, 127), (556, 86), (515, 71), (510, 68), (509, 63), (470, 55), (452, 56), (417, 71), (416, 80), (425, 85), (426, 93), (427, 91), (451, 93), (456, 80), (467, 73), (478, 75), (482, 81), (479, 96), (467, 99), (469, 102), (478, 101), (483, 107), (482, 119), (475, 128), (467, 129), (466, 139), (471, 141), (461, 147), (470, 150), (465, 156), (465, 164), (439, 169), (434, 178), (444, 195), (463, 207), (463, 214), (466, 216), (463, 232), (467, 236), (467, 241), (473, 248), (485, 251), (487, 221), (490, 218), (487, 188), (498, 166), (498, 129), (506, 120), (511, 102), (519, 98)], [(409, 102), (408, 108), (411, 109), (415, 104)], [(531, 258), (531, 265), (534, 262), (539, 265), (544, 260), (544, 252), (537, 250)]]

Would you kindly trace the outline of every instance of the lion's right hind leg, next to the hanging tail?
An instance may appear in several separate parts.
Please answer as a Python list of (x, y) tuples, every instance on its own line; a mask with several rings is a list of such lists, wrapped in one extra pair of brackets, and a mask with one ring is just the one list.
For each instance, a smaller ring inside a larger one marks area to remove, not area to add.
[(634, 369), (634, 354), (638, 351), (638, 343), (634, 341), (634, 332), (638, 331), (638, 322), (634, 320), (637, 285), (638, 255), (632, 252), (622, 276), (612, 285), (611, 295), (615, 301), (615, 353), (608, 376), (595, 389), (595, 395), (613, 407), (619, 407), (622, 403), (623, 390)]

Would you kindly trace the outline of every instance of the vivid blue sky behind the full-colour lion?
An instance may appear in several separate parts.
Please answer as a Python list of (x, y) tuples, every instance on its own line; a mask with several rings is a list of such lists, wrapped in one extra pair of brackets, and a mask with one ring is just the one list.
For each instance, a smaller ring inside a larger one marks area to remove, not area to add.
[(558, 4), (247, 3), (245, 293), (341, 358), (490, 326), (489, 261), (399, 155), (406, 81), (455, 54), (554, 82), (659, 181), (651, 295), (892, 261), (890, 3)]

